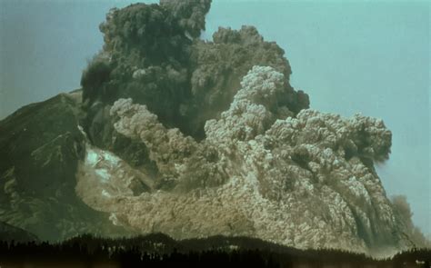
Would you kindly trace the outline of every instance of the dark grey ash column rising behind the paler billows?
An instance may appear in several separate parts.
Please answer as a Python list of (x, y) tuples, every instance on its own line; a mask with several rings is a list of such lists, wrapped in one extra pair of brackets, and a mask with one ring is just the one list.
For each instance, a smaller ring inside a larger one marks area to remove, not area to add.
[(294, 113), (308, 107), (308, 96), (288, 83), (291, 69), (283, 49), (264, 41), (255, 27), (220, 28), (214, 42), (190, 38), (204, 29), (209, 4), (163, 1), (113, 9), (106, 15), (100, 25), (104, 49), (88, 65), (81, 83), (88, 114), (85, 129), (95, 144), (109, 139), (95, 126), (110, 121), (98, 105), (128, 97), (145, 104), (163, 124), (202, 139), (206, 120), (226, 110), (241, 78), (254, 65), (285, 74), (279, 105)]

